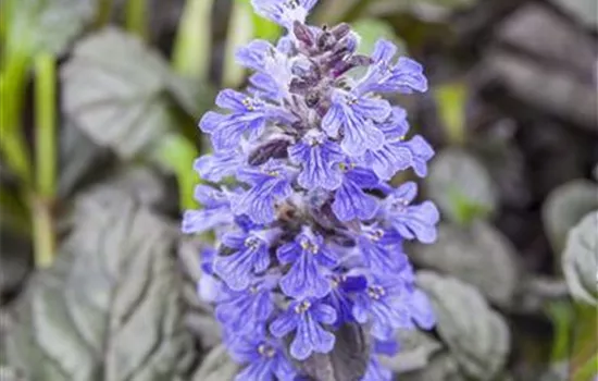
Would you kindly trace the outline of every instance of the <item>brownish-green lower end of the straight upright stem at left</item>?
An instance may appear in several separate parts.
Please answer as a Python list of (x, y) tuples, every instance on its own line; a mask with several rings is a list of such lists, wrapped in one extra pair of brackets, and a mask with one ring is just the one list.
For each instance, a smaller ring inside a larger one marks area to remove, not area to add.
[(35, 265), (38, 269), (46, 268), (52, 265), (54, 258), (55, 236), (52, 214), (46, 200), (33, 196), (30, 204)]

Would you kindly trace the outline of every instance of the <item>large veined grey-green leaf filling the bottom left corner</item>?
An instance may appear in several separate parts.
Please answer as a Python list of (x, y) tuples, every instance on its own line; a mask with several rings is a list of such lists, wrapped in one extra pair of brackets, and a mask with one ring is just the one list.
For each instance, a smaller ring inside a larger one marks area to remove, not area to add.
[(20, 302), (9, 365), (30, 381), (179, 379), (195, 352), (183, 329), (176, 230), (105, 187), (78, 199), (74, 228)]

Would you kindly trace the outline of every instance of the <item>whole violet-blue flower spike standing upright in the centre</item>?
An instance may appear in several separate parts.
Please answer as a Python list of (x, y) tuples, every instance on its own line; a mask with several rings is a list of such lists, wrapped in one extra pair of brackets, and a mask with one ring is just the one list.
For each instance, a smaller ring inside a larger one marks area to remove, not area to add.
[(197, 187), (202, 208), (185, 212), (183, 231), (215, 233), (199, 292), (244, 365), (238, 381), (295, 380), (298, 362), (334, 351), (342, 324), (372, 339), (362, 380), (390, 380), (377, 355), (397, 351), (396, 331), (434, 325), (402, 244), (433, 243), (438, 211), (415, 200), (415, 183), (387, 183), (408, 169), (425, 176), (434, 151), (407, 138), (406, 111), (383, 98), (425, 91), (423, 67), (383, 39), (358, 54), (347, 24), (306, 25), (315, 3), (252, 0), (287, 34), (238, 51), (254, 72), (247, 91), (221, 91), (222, 110), (199, 124), (213, 153), (195, 169), (211, 185)]

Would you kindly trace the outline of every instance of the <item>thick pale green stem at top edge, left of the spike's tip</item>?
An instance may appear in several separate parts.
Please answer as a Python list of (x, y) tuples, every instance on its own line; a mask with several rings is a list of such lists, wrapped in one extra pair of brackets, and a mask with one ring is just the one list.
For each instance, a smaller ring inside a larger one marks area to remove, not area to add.
[(210, 71), (212, 7), (214, 0), (187, 0), (173, 50), (173, 66), (182, 75), (200, 81)]

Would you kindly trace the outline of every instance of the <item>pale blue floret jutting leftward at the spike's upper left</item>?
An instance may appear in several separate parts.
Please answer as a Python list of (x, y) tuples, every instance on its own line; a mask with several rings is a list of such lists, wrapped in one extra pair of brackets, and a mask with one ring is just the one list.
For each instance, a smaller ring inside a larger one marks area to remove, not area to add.
[(210, 111), (199, 122), (201, 131), (212, 135), (216, 150), (235, 149), (245, 133), (249, 133), (250, 140), (256, 139), (267, 121), (291, 123), (296, 119), (282, 108), (232, 89), (222, 90), (216, 97), (216, 105), (232, 110), (232, 113), (223, 115)]

